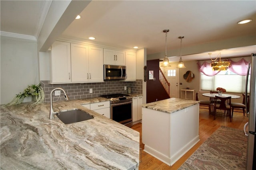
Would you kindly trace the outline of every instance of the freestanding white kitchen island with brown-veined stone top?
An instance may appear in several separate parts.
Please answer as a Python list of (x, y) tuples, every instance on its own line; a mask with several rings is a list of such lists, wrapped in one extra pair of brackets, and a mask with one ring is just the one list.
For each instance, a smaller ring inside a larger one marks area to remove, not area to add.
[(142, 105), (144, 151), (171, 166), (198, 143), (199, 102), (170, 98)]

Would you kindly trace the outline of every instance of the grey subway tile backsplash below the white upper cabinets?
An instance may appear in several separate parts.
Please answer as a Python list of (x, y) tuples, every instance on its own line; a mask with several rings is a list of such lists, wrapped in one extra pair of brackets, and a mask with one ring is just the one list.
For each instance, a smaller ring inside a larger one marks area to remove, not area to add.
[[(91, 98), (105, 94), (123, 93), (126, 94), (127, 90), (124, 90), (124, 86), (131, 87), (133, 94), (142, 94), (142, 80), (136, 80), (135, 82), (121, 82), (118, 80), (105, 80), (102, 83), (73, 83), (73, 84), (49, 84), (48, 80), (40, 81), (42, 88), (44, 89), (44, 101), (50, 102), (50, 92), (57, 87), (63, 88), (70, 99)], [(89, 93), (92, 88), (92, 93)], [(65, 100), (63, 92), (60, 92), (60, 99)], [(53, 100), (57, 100), (59, 97), (52, 95)]]

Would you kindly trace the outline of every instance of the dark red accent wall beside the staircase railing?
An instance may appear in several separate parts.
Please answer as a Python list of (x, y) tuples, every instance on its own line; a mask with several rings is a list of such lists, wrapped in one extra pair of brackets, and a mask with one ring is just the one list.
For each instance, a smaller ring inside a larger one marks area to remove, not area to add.
[[(154, 78), (156, 80), (148, 79), (148, 71), (154, 70)], [(147, 61), (147, 103), (156, 102), (170, 98), (164, 90), (161, 82), (159, 81), (159, 59)]]

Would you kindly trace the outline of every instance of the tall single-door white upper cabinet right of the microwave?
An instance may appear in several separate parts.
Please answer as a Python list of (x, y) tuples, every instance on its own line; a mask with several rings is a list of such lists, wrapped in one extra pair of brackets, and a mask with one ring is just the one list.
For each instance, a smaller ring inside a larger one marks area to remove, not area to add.
[(136, 81), (136, 53), (125, 52), (126, 79), (124, 81)]

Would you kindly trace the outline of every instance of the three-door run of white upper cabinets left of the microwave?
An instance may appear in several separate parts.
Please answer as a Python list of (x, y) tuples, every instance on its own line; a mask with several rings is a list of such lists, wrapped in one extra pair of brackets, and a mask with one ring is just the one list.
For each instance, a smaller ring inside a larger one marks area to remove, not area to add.
[(55, 41), (50, 83), (104, 82), (103, 48)]

